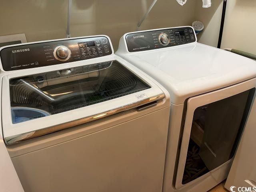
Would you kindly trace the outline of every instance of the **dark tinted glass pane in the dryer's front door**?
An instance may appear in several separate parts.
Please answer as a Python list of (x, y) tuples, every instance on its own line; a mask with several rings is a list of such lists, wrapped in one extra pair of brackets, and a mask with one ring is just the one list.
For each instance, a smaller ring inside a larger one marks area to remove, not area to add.
[(182, 184), (234, 156), (254, 91), (248, 90), (195, 110)]

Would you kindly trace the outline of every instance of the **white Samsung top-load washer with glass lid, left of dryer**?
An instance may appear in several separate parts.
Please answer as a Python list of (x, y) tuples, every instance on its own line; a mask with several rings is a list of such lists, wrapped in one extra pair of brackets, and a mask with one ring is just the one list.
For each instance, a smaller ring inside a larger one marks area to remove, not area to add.
[(162, 190), (170, 95), (108, 36), (5, 46), (0, 57), (1, 155), (24, 191)]

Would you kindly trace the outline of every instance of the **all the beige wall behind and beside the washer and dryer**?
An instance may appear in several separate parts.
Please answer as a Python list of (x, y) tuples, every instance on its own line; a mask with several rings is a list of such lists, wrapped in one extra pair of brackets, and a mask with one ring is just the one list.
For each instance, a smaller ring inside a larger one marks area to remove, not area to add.
[[(115, 50), (120, 37), (136, 25), (153, 0), (73, 0), (72, 37), (106, 34)], [(198, 42), (217, 46), (223, 0), (202, 8), (201, 0), (159, 0), (141, 30), (204, 23)], [(0, 6), (0, 36), (25, 33), (28, 42), (66, 38), (68, 0), (3, 0)], [(222, 48), (256, 54), (256, 0), (228, 0)], [(248, 28), (250, 28), (248, 30)], [(246, 30), (246, 34), (244, 33)]]

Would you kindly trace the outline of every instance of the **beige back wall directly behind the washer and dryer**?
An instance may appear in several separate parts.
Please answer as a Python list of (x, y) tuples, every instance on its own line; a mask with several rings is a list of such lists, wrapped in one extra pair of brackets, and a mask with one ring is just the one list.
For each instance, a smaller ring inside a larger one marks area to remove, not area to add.
[[(136, 30), (152, 1), (73, 0), (71, 36), (106, 34), (116, 50), (120, 37)], [(25, 33), (28, 42), (66, 38), (67, 6), (68, 0), (3, 0), (0, 36)], [(141, 30), (191, 25), (195, 6), (195, 0), (183, 7), (176, 0), (159, 0)]]

